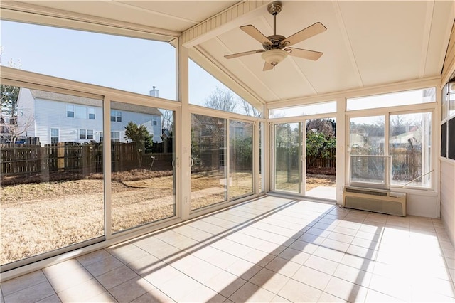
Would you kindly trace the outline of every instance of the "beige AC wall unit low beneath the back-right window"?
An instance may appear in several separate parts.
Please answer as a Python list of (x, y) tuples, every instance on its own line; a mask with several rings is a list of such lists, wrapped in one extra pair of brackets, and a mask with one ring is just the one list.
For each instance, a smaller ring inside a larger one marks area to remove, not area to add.
[(406, 193), (345, 186), (343, 206), (362, 211), (406, 216)]

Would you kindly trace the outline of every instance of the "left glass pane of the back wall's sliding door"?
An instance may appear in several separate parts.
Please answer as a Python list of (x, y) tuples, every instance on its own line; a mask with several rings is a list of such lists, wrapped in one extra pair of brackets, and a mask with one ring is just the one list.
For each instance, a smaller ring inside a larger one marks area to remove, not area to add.
[(275, 125), (275, 190), (300, 193), (300, 123)]

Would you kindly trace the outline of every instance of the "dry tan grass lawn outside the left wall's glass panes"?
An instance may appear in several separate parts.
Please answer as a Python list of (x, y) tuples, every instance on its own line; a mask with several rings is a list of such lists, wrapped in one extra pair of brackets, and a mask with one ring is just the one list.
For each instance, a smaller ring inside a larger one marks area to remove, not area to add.
[[(141, 174), (143, 173), (143, 174)], [(172, 172), (129, 171), (112, 176), (114, 232), (175, 215)], [(104, 235), (102, 176), (1, 186), (1, 264)], [(252, 191), (251, 174), (239, 173), (230, 196)], [(191, 209), (225, 201), (220, 176), (193, 174)]]

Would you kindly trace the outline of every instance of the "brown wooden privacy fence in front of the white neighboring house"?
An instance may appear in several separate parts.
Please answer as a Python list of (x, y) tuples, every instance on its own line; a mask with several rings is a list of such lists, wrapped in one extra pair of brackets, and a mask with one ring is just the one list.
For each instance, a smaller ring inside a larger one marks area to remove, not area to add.
[[(134, 143), (112, 142), (112, 170), (137, 167)], [(28, 144), (0, 144), (0, 174), (37, 174), (61, 171), (80, 174), (102, 172), (102, 144), (60, 142), (45, 147)]]

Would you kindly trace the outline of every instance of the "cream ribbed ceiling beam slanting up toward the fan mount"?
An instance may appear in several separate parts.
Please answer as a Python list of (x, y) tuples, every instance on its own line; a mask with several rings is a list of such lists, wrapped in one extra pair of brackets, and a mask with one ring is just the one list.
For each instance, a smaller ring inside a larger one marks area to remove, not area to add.
[(245, 25), (252, 18), (264, 14), (263, 7), (269, 2), (265, 0), (245, 0), (235, 4), (184, 31), (181, 35), (182, 45), (186, 48), (191, 48), (215, 38), (221, 33)]

